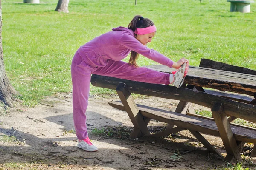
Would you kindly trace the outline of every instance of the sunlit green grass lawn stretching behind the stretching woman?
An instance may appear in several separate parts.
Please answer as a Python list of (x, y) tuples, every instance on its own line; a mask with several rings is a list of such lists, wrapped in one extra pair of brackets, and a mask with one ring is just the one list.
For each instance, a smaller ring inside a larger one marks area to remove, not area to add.
[[(79, 46), (141, 14), (157, 26), (148, 45), (177, 61), (201, 58), (256, 69), (256, 3), (247, 14), (230, 12), (224, 0), (72, 0), (69, 13), (58, 0), (24, 4), (2, 0), (3, 54), (7, 75), (25, 105), (44, 96), (70, 92), (70, 64)], [(125, 59), (128, 61), (128, 58)], [(139, 65), (157, 64), (140, 56)], [(91, 86), (91, 94), (113, 93)]]

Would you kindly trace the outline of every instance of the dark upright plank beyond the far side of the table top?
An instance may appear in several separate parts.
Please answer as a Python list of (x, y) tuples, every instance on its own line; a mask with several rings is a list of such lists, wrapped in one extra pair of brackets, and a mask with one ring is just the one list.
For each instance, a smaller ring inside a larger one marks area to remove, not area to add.
[(203, 58), (200, 61), (199, 67), (256, 75), (256, 70), (251, 70), (249, 68), (239, 67), (239, 66), (230, 65), (223, 62), (217, 62), (217, 61), (213, 61), (210, 59), (203, 59)]

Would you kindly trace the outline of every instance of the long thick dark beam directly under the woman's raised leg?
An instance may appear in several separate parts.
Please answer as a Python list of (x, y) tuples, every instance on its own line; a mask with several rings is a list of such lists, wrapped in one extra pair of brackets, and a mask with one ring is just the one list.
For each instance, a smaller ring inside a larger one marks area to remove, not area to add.
[(256, 105), (236, 102), (212, 94), (196, 92), (187, 88), (177, 89), (170, 85), (135, 82), (114, 77), (99, 76), (96, 74), (93, 74), (91, 77), (92, 85), (102, 88), (116, 89), (119, 82), (124, 82), (127, 85), (128, 91), (135, 94), (186, 101), (208, 108), (212, 108), (216, 102), (221, 102), (224, 104), (224, 112), (228, 115), (256, 123)]

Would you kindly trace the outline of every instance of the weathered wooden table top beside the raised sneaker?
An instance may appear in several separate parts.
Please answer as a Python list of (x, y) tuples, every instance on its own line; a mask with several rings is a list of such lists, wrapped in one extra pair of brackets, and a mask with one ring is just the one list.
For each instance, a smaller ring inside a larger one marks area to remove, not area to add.
[[(169, 68), (165, 65), (150, 65), (145, 67), (166, 73), (175, 71), (174, 68)], [(256, 75), (189, 66), (184, 83), (250, 96), (256, 95)]]

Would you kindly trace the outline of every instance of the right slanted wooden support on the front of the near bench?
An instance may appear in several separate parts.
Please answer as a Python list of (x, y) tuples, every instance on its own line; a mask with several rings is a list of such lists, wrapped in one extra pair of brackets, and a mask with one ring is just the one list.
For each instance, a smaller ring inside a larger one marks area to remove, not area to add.
[[(212, 108), (212, 115), (218, 127), (221, 139), (227, 151), (226, 160), (230, 162), (242, 161), (240, 150), (231, 130), (227, 115), (224, 112), (222, 103), (215, 103)], [(244, 144), (244, 143), (243, 143)]]

